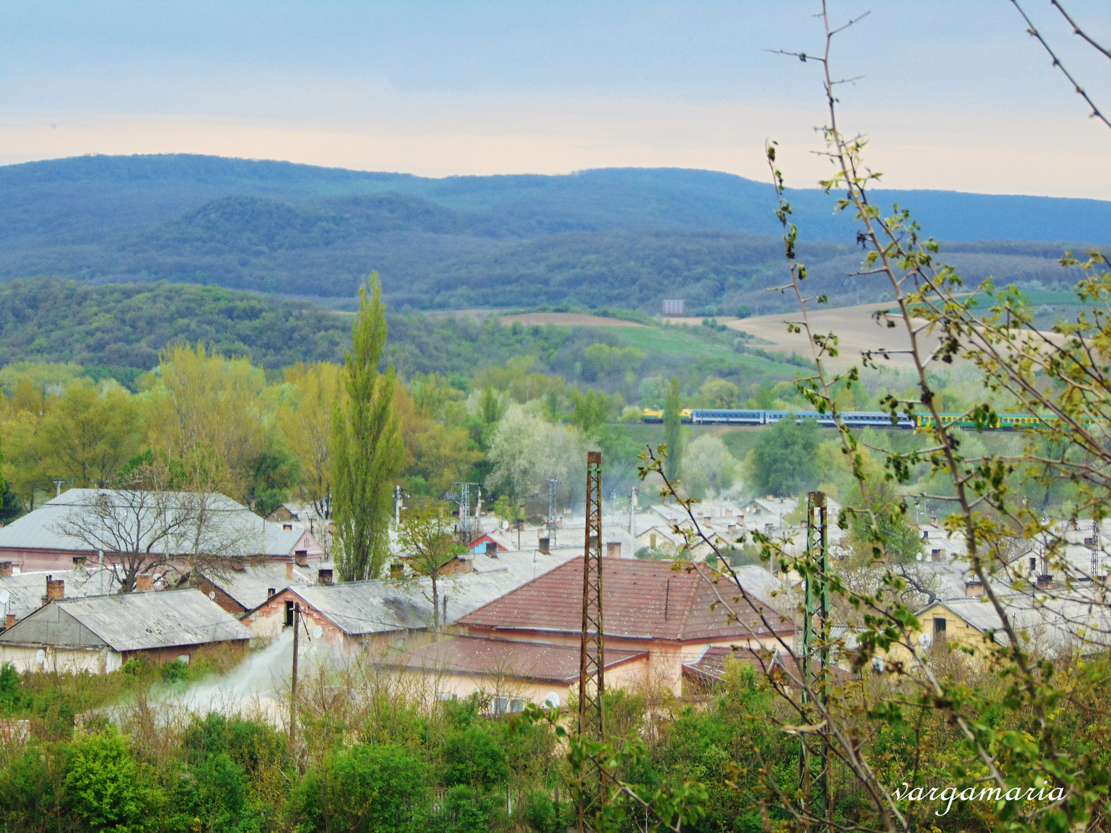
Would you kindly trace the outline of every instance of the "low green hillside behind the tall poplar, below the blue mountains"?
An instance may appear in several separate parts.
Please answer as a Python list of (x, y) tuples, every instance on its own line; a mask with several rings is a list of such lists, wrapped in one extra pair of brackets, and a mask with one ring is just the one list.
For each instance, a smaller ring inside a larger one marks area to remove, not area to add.
[[(769, 377), (790, 379), (798, 370), (770, 354), (745, 353), (731, 331), (703, 327), (522, 327), (497, 318), (396, 312), (388, 318), (383, 364), (403, 379), (416, 373), (470, 379), (533, 357), (531, 372), (635, 400), (645, 377), (678, 374), (697, 388), (717, 375), (747, 390)], [(349, 314), (220, 287), (89, 285), (57, 278), (0, 284), (0, 365), (76, 362), (131, 384), (158, 363), (159, 350), (176, 342), (204, 342), (276, 370), (298, 361), (342, 361), (350, 338)], [(634, 347), (643, 359), (630, 375), (628, 368), (592, 360), (588, 349), (593, 344)]]

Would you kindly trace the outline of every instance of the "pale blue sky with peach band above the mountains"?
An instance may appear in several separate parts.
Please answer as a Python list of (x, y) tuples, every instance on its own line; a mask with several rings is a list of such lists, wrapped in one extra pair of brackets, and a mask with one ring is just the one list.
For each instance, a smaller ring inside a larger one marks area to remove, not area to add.
[[(1111, 61), (1022, 0), (1111, 112)], [(210, 153), (429, 177), (825, 175), (819, 0), (6, 0), (0, 164)], [(1011, 0), (830, 0), (842, 130), (892, 188), (1111, 199), (1111, 130)], [(1067, 0), (1111, 44), (1111, 3)]]

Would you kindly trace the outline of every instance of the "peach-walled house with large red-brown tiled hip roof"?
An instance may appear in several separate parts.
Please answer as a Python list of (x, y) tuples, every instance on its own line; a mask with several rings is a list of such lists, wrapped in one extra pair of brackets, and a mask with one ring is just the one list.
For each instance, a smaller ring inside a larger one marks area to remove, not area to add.
[[(672, 562), (604, 559), (602, 609), (605, 649), (647, 653), (643, 676), (625, 682), (665, 685), (682, 693), (683, 665), (697, 664), (712, 646), (772, 651), (790, 645), (794, 624), (761, 602), (733, 601), (722, 580), (714, 586), (697, 572), (672, 570)], [(755, 595), (762, 596), (762, 593)], [(470, 636), (563, 645), (575, 651), (582, 629), (582, 560), (575, 559), (457, 620)], [(537, 673), (543, 672), (543, 663)]]

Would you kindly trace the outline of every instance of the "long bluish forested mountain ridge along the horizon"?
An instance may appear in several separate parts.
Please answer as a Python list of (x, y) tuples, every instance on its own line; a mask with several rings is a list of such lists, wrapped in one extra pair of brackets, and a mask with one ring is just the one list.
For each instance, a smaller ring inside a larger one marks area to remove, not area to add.
[[(848, 218), (790, 194), (821, 291), (874, 288)], [(915, 211), (970, 280), (1052, 288), (1064, 243), (1107, 243), (1111, 203), (941, 191), (875, 192)], [(170, 280), (350, 299), (372, 269), (394, 309), (619, 304), (771, 309), (782, 278), (767, 184), (710, 171), (426, 179), (194, 155), (81, 157), (0, 168), (0, 278)], [(961, 243), (960, 241), (990, 242)]]

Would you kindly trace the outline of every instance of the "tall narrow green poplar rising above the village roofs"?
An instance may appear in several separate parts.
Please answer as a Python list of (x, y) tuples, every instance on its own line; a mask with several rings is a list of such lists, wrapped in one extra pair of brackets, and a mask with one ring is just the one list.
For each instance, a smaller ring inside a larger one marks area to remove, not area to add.
[(344, 353), (346, 401), (333, 405), (336, 563), (344, 581), (378, 578), (389, 552), (390, 499), (404, 464), (393, 408), (393, 370), (380, 373), (386, 304), (378, 272), (359, 290), (352, 349)]

